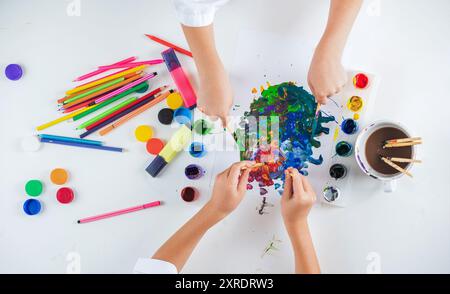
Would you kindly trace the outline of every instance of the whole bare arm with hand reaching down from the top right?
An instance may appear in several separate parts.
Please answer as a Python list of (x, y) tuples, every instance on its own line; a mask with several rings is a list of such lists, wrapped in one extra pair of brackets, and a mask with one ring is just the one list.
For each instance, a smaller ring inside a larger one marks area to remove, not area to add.
[(309, 87), (322, 104), (340, 92), (347, 82), (341, 58), (361, 4), (362, 0), (331, 0), (327, 27), (308, 73)]

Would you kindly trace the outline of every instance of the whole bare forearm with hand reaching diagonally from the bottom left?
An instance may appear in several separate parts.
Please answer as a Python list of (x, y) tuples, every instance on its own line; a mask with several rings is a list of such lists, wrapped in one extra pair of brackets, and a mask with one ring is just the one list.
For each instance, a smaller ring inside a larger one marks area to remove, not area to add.
[(181, 271), (206, 231), (230, 214), (243, 199), (250, 169), (242, 169), (250, 165), (252, 162), (249, 161), (238, 162), (217, 175), (208, 203), (164, 243), (152, 258), (170, 262)]

